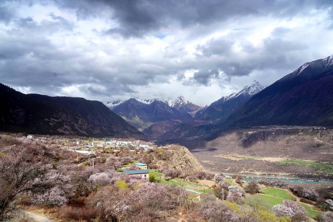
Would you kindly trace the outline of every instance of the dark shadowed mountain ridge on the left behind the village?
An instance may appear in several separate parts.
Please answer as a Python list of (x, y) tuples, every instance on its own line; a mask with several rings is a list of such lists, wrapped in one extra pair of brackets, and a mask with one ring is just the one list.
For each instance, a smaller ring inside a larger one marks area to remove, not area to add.
[(1, 131), (147, 140), (99, 101), (23, 94), (3, 84), (0, 84), (0, 98)]

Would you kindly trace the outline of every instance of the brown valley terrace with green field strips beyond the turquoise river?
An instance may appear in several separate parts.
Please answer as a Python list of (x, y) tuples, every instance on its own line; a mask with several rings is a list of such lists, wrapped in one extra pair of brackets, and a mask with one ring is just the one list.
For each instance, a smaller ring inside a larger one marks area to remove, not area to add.
[(332, 141), (332, 129), (276, 126), (227, 131), (187, 146), (212, 171), (331, 180)]

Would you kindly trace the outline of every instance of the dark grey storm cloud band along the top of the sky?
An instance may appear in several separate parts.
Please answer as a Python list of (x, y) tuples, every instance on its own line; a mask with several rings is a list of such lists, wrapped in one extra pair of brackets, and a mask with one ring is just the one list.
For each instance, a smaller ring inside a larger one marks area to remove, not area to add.
[(237, 19), (243, 16), (275, 16), (291, 18), (309, 8), (332, 6), (332, 1), (266, 1), (266, 0), (54, 0), (65, 9), (74, 10), (79, 19), (99, 17), (101, 12), (110, 15), (119, 22), (118, 27), (111, 27), (105, 33), (119, 33), (125, 37), (142, 36), (160, 28), (179, 26), (186, 28), (193, 25)]

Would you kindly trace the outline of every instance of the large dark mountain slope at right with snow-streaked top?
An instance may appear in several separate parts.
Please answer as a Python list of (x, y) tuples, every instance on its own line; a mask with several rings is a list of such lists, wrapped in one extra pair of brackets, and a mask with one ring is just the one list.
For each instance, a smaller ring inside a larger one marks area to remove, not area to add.
[(333, 125), (333, 56), (307, 62), (254, 95), (223, 123), (228, 128), (258, 125)]

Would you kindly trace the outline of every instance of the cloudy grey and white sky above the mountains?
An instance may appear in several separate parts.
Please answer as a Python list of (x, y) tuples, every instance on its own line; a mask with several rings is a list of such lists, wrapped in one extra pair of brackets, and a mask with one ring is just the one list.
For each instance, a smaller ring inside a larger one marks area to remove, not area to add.
[(210, 104), (333, 54), (331, 0), (0, 0), (0, 82)]

